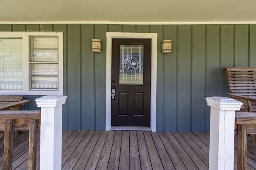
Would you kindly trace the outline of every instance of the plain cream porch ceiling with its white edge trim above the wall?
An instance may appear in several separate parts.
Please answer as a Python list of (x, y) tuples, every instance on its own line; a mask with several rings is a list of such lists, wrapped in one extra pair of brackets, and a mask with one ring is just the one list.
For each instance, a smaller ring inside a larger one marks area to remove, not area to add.
[(0, 23), (256, 23), (256, 0), (0, 0), (0, 6)]

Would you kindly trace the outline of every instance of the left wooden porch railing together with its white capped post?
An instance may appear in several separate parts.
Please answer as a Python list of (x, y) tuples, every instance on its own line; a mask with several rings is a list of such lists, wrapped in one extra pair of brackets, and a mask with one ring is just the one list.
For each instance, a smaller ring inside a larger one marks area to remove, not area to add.
[(40, 130), (40, 169), (61, 169), (62, 105), (67, 96), (48, 95), (36, 99), (41, 110), (0, 111), (4, 131), (4, 170), (12, 170), (14, 131), (29, 131), (28, 169), (36, 169), (36, 139)]

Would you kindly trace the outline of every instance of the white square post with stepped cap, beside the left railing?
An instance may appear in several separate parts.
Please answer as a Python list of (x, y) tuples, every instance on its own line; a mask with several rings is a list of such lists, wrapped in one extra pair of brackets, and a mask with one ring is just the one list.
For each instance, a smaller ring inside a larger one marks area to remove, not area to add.
[(66, 98), (48, 95), (35, 100), (41, 107), (40, 170), (61, 170), (62, 105)]

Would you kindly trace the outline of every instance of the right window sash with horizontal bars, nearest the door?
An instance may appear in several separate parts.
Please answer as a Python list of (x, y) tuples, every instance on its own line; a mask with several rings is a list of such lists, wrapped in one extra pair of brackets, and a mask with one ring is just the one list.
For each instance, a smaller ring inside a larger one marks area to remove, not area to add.
[(58, 89), (57, 36), (30, 37), (30, 90)]

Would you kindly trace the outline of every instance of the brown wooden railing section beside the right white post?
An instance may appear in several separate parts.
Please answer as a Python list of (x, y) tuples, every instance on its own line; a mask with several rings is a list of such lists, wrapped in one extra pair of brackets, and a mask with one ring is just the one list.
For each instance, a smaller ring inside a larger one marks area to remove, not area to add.
[(256, 113), (236, 112), (235, 123), (238, 133), (237, 169), (246, 170), (247, 134), (256, 134)]

